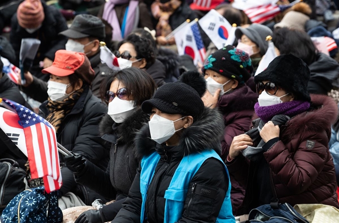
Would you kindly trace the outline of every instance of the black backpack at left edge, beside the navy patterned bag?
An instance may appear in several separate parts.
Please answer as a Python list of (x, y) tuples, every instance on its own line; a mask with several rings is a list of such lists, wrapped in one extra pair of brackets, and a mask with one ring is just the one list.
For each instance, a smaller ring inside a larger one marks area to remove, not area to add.
[(26, 173), (12, 159), (0, 159), (0, 215), (8, 203), (25, 190)]

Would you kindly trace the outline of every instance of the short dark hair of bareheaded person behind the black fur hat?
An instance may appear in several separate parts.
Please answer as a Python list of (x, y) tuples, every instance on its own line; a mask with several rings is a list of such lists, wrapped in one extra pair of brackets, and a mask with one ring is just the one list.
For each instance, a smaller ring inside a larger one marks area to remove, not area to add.
[(280, 54), (292, 54), (302, 59), (307, 65), (317, 59), (318, 50), (311, 37), (303, 30), (287, 27), (276, 29), (272, 41)]

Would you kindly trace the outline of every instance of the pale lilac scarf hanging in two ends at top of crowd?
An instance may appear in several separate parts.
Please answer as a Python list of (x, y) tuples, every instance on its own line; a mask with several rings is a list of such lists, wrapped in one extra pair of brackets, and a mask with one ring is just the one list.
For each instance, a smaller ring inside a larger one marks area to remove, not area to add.
[(121, 27), (119, 24), (118, 16), (115, 11), (115, 5), (116, 4), (126, 4), (129, 3), (128, 5), (128, 12), (127, 12), (127, 18), (126, 18), (126, 25), (125, 25), (125, 31), (124, 31), (124, 36), (127, 36), (130, 34), (134, 28), (136, 23), (136, 10), (139, 5), (138, 0), (109, 0), (106, 2), (104, 6), (104, 13), (102, 15), (102, 18), (105, 19), (112, 27), (112, 40), (119, 40), (121, 41), (123, 39), (123, 35), (121, 33)]

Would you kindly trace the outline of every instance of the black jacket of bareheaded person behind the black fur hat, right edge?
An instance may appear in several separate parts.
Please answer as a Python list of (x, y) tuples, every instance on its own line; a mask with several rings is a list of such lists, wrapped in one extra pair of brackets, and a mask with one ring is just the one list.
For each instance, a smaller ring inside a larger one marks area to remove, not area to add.
[(339, 87), (339, 64), (335, 59), (319, 53), (309, 68), (311, 78), (307, 89), (311, 94), (327, 95), (333, 87)]

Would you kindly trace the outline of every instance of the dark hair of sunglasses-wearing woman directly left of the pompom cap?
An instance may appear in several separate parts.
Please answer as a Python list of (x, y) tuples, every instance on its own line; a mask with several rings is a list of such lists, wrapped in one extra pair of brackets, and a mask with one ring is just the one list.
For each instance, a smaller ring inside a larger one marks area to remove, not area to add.
[[(133, 95), (135, 106), (141, 106), (144, 101), (151, 99), (156, 91), (156, 83), (151, 75), (139, 68), (126, 68), (110, 73), (102, 82), (100, 96), (103, 102), (105, 102), (105, 93), (110, 90), (114, 80), (118, 80), (125, 85), (129, 91), (128, 94)], [(107, 102), (105, 103), (107, 104)]]

